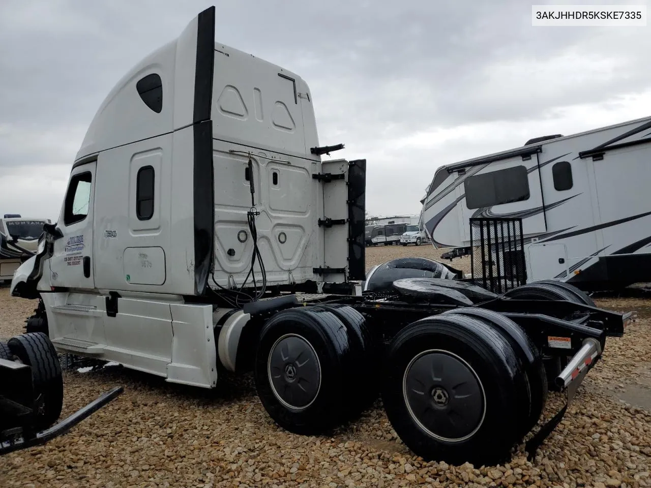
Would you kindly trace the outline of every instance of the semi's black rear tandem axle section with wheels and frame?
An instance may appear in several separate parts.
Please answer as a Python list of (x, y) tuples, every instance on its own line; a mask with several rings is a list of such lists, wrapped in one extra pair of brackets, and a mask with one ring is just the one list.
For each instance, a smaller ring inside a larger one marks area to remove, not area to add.
[(379, 394), (415, 454), (475, 465), (505, 461), (538, 424), (548, 389), (564, 392), (564, 407), (525, 446), (532, 459), (605, 338), (622, 336), (632, 315), (567, 291), (534, 283), (461, 307), (372, 291), (251, 303), (256, 388), (279, 426), (309, 435), (355, 418)]

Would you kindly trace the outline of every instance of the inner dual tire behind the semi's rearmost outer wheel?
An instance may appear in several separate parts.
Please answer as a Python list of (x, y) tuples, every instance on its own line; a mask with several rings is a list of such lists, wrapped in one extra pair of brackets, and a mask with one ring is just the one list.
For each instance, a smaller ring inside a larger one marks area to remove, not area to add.
[(524, 437), (538, 424), (547, 401), (547, 375), (538, 347), (517, 323), (498, 312), (486, 308), (464, 307), (443, 312), (441, 315), (456, 314), (474, 317), (493, 327), (508, 340), (516, 355), (518, 355), (520, 367), (527, 375), (531, 402), (529, 416), (521, 430), (521, 436)]

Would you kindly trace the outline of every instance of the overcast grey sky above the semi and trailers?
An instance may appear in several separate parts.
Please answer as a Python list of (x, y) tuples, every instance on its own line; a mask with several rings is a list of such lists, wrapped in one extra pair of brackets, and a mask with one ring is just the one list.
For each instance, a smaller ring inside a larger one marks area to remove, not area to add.
[(0, 214), (55, 221), (107, 92), (210, 5), (217, 42), (307, 81), (333, 157), (367, 159), (371, 215), (419, 213), (440, 165), (651, 115), (651, 25), (532, 27), (522, 0), (0, 0)]

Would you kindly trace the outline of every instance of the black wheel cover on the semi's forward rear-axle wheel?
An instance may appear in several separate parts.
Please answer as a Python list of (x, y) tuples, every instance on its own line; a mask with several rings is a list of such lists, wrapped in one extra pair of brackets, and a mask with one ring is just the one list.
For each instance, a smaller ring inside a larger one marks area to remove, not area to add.
[(321, 388), (321, 364), (314, 347), (297, 334), (285, 334), (271, 347), (268, 375), (273, 394), (284, 407), (307, 409)]

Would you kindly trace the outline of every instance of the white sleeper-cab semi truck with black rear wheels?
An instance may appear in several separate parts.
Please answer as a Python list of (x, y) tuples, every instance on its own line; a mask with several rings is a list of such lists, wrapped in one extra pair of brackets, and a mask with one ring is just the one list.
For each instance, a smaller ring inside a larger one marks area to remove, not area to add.
[(342, 145), (320, 145), (313, 102), (299, 75), (215, 42), (201, 12), (99, 107), (58, 221), (12, 280), (38, 303), (28, 331), (173, 383), (253, 372), (294, 433), (381, 395), (416, 454), (508, 459), (547, 388), (571, 401), (630, 314), (562, 283), (495, 295), (419, 258), (367, 277), (366, 161), (322, 159)]

